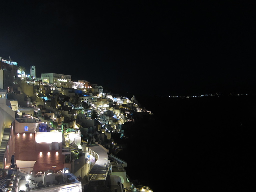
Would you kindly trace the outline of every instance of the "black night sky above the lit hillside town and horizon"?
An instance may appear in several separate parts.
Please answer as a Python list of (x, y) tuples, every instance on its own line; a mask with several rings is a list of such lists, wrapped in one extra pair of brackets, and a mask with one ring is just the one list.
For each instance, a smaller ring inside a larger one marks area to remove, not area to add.
[[(253, 2), (253, 1), (251, 1)], [(5, 1), (0, 56), (115, 93), (256, 93), (255, 4)]]

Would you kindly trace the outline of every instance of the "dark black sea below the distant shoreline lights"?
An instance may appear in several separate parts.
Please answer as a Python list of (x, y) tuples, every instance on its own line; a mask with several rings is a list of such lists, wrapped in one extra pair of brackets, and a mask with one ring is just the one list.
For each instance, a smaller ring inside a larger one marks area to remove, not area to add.
[(155, 192), (255, 189), (255, 95), (135, 97), (154, 115), (124, 125), (117, 156), (130, 180)]

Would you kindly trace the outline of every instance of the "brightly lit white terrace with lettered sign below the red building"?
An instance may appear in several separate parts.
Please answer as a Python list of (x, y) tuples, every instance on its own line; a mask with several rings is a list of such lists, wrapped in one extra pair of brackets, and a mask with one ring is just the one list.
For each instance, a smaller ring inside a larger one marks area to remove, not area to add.
[(47, 170), (38, 172), (36, 175), (19, 169), (0, 169), (0, 190), (82, 192), (82, 185), (81, 181), (77, 180), (77, 177), (66, 167), (57, 173)]

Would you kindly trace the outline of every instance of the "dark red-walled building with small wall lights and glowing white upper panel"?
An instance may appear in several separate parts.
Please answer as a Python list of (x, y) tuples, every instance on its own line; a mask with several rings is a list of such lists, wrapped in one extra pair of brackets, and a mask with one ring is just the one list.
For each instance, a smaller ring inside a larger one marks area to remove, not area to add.
[[(56, 165), (56, 170), (69, 167), (65, 164), (65, 155), (62, 154), (62, 133), (51, 130), (46, 123), (33, 116), (23, 115), (23, 118), (16, 118), (10, 133), (13, 140), (8, 143), (13, 146), (15, 160), (21, 170), (37, 173), (52, 169), (53, 165)], [(23, 167), (24, 164), (26, 168)]]

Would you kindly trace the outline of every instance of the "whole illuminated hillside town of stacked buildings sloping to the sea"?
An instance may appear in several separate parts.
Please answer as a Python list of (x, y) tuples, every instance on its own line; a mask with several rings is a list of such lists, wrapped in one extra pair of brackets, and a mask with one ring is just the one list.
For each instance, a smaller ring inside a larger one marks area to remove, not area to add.
[(39, 73), (0, 57), (0, 190), (152, 192), (126, 175), (114, 140), (135, 112), (151, 112), (135, 96)]

